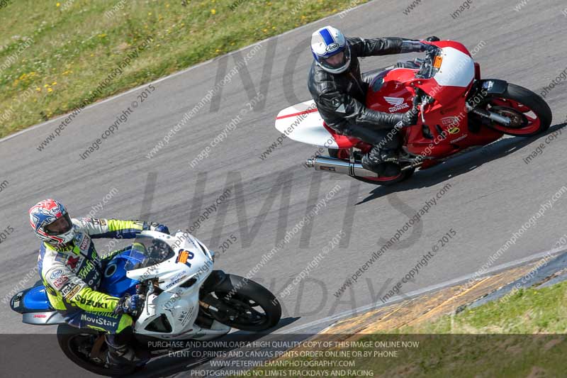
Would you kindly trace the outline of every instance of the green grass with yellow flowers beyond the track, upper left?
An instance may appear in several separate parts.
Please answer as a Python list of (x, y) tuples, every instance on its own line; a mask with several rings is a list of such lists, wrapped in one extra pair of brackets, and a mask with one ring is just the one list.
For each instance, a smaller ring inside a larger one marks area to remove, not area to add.
[(123, 0), (123, 9), (106, 17), (119, 0), (8, 0), (0, 8), (0, 137), (82, 104), (148, 36), (154, 38), (150, 47), (94, 101), (337, 13), (351, 2)]

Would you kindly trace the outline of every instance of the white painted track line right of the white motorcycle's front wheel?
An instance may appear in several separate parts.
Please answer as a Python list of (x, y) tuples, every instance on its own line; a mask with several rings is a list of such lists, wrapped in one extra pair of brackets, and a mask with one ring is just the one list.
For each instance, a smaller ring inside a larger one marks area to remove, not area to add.
[[(561, 249), (558, 249), (558, 248), (554, 248), (552, 250), (547, 250), (547, 251), (544, 251), (544, 252), (538, 252), (534, 255), (529, 255), (529, 256), (524, 257), (522, 259), (506, 262), (505, 264), (497, 265), (495, 267), (487, 269), (484, 274), (481, 274), (477, 278), (486, 277), (486, 276), (493, 274), (495, 272), (499, 272), (500, 270), (510, 269), (512, 267), (524, 265), (527, 262), (532, 262), (533, 260), (538, 260), (539, 258), (544, 257), (545, 255), (548, 255), (548, 254), (554, 255), (554, 257), (556, 257), (556, 255), (561, 254), (561, 252), (567, 252), (567, 250), (566, 249), (561, 250)], [(284, 333), (284, 334), (298, 333), (298, 330), (303, 330), (305, 328), (318, 326), (320, 324), (330, 325), (331, 323), (335, 323), (339, 320), (342, 320), (342, 318), (355, 316), (357, 314), (364, 313), (366, 311), (376, 310), (376, 309), (381, 308), (381, 307), (390, 306), (391, 304), (395, 304), (397, 302), (403, 301), (404, 299), (413, 298), (414, 296), (420, 296), (422, 294), (427, 294), (427, 293), (432, 292), (432, 291), (444, 289), (445, 287), (451, 287), (451, 286), (454, 286), (456, 284), (461, 284), (461, 283), (466, 282), (469, 279), (473, 278), (473, 276), (475, 276), (476, 274), (477, 274), (476, 272), (473, 272), (471, 274), (466, 274), (464, 276), (457, 277), (455, 279), (449, 279), (448, 281), (441, 282), (439, 284), (434, 284), (434, 285), (429, 286), (429, 287), (424, 287), (422, 289), (410, 291), (408, 294), (405, 294), (405, 296), (393, 296), (391, 298), (391, 300), (387, 301), (385, 304), (378, 304), (378, 302), (375, 302), (375, 303), (372, 303), (372, 304), (366, 304), (365, 306), (360, 306), (359, 308), (354, 308), (354, 310), (343, 311), (341, 313), (337, 313), (335, 315), (331, 315), (331, 316), (327, 316), (326, 318), (319, 319), (318, 321), (312, 321), (310, 323), (306, 323), (306, 324), (303, 324), (301, 326), (297, 326), (297, 327), (294, 327), (294, 328), (283, 330), (283, 332), (281, 332), (281, 333)]]

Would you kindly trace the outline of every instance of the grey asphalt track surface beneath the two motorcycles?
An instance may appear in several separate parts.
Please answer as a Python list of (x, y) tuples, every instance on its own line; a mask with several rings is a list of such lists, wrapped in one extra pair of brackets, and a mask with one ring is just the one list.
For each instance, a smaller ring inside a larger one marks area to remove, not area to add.
[[(565, 7), (561, 1), (529, 0), (515, 11), (516, 1), (476, 0), (459, 18), (451, 18), (461, 4), (427, 1), (406, 16), (403, 10), (409, 4), (405, 2), (371, 1), (352, 9), (344, 18), (332, 16), (265, 40), (246, 69), (241, 70), (249, 72), (249, 76), (232, 77), (222, 87), (220, 101), (217, 97), (212, 106), (203, 106), (151, 159), (146, 157), (150, 150), (203, 99), (216, 78), (224, 76), (218, 73), (219, 67), (226, 64), (226, 72), (230, 72), (236, 60), (253, 48), (242, 50), (240, 57), (231, 54), (228, 61), (221, 57), (157, 81), (155, 91), (86, 160), (79, 154), (100, 138), (128, 106), (133, 109), (133, 101), (140, 103), (137, 94), (146, 86), (84, 109), (41, 152), (36, 148), (61, 118), (2, 140), (0, 182), (6, 180), (9, 184), (0, 191), (0, 230), (10, 226), (13, 232), (0, 245), (0, 292), (9, 293), (36, 265), (39, 242), (27, 217), (31, 205), (55, 197), (67, 204), (72, 216), (85, 216), (113, 188), (118, 193), (108, 199), (96, 217), (145, 218), (167, 223), (172, 230), (193, 224), (225, 188), (230, 188), (230, 199), (194, 234), (217, 250), (218, 245), (235, 235), (237, 243), (220, 257), (216, 267), (245, 275), (274, 248), (286, 230), (293, 230), (310, 206), (338, 184), (339, 190), (310, 226), (301, 228), (254, 276), (279, 293), (322, 252), (330, 238), (340, 230), (347, 234), (342, 244), (282, 299), (285, 326), (279, 332), (379, 301), (378, 294), (385, 294), (393, 282), (415, 267), (451, 228), (457, 232), (456, 237), (420, 270), (415, 282), (403, 286), (403, 291), (476, 272), (539, 211), (541, 204), (567, 184), (563, 174), (566, 135), (558, 135), (547, 144), (546, 135), (506, 138), (490, 148), (417, 172), (408, 182), (391, 188), (305, 169), (301, 163), (315, 148), (291, 140), (284, 140), (266, 159), (259, 158), (279, 136), (274, 128), (276, 113), (310, 99), (306, 87), (312, 60), (308, 40), (320, 26), (332, 24), (347, 35), (366, 38), (438, 35), (459, 40), (471, 50), (484, 41), (474, 57), (481, 64), (483, 77), (505, 79), (538, 93), (566, 69), (567, 40), (562, 32), (567, 18), (561, 13)], [(403, 58), (371, 57), (361, 65), (363, 70), (371, 70)], [(264, 80), (264, 87), (263, 72), (264, 78), (269, 78)], [(563, 80), (546, 96), (554, 113), (552, 129), (566, 120), (564, 88)], [(191, 160), (210, 146), (232, 118), (247, 109), (246, 103), (254, 92), (265, 95), (264, 106), (245, 113), (227, 138), (210, 148), (210, 155), (192, 168)], [(523, 158), (540, 143), (546, 145), (543, 152), (526, 164)], [(344, 280), (447, 184), (450, 189), (437, 199), (437, 205), (422, 221), (337, 299), (333, 293)], [(567, 196), (558, 198), (493, 265), (553, 248), (566, 232), (566, 210)], [(97, 242), (99, 252), (106, 249), (105, 245), (105, 240)], [(35, 277), (26, 286), (33, 282)], [(0, 330), (52, 333), (55, 327), (27, 326), (3, 303)]]

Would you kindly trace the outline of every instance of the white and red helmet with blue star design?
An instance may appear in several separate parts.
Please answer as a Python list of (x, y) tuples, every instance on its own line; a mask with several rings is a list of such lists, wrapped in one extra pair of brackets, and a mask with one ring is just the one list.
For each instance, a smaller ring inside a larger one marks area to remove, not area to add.
[[(74, 229), (71, 218), (69, 218), (69, 213), (65, 206), (55, 199), (45, 199), (38, 202), (30, 208), (30, 226), (33, 228), (35, 235), (38, 238), (49, 243), (50, 245), (64, 245), (69, 243), (74, 238)], [(54, 233), (47, 230), (47, 226), (51, 223), (59, 220), (60, 218), (65, 218), (68, 227), (64, 230), (60, 230)]]

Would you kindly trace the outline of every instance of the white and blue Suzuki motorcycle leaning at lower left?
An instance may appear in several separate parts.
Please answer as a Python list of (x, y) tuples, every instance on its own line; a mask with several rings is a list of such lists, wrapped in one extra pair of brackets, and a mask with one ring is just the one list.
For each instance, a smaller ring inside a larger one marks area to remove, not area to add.
[[(150, 340), (211, 340), (231, 328), (263, 331), (276, 326), (281, 306), (276, 297), (250, 279), (213, 270), (214, 252), (188, 233), (143, 231), (130, 249), (108, 262), (99, 291), (113, 296), (143, 294), (145, 303), (133, 317), (133, 347), (152, 351)], [(45, 287), (21, 291), (11, 299), (23, 323), (58, 325), (63, 352), (97, 374), (125, 375), (143, 365), (108, 365), (103, 333), (73, 328), (47, 300)], [(159, 348), (156, 348), (159, 349)]]

